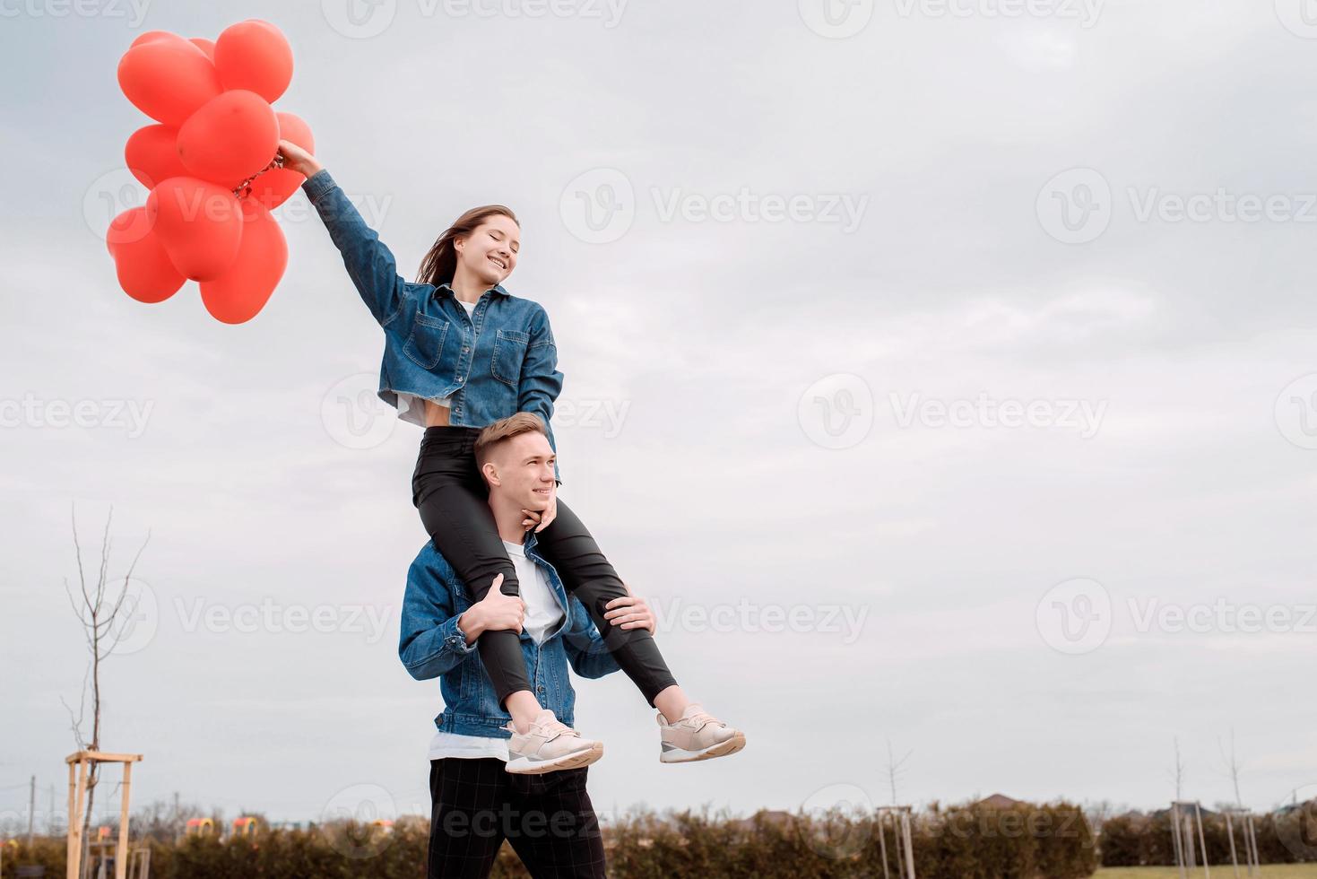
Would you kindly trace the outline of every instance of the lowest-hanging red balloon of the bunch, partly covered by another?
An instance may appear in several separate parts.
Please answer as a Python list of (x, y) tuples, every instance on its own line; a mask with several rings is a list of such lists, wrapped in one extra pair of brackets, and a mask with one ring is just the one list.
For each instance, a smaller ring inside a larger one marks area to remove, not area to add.
[(202, 282), (202, 302), (224, 323), (254, 318), (274, 293), (288, 265), (283, 229), (258, 202), (242, 200), (242, 246), (229, 270)]

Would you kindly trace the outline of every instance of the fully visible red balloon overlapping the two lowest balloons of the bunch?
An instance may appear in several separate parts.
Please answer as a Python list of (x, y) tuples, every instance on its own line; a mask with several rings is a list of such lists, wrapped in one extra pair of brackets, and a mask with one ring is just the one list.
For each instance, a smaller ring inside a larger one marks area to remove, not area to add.
[(170, 261), (192, 281), (220, 277), (238, 254), (242, 208), (232, 190), (171, 177), (146, 198), (146, 217)]

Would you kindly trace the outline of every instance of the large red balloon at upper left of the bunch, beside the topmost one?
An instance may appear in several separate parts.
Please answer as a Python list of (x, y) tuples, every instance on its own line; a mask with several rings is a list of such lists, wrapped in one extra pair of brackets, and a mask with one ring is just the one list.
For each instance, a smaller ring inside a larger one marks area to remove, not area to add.
[(162, 36), (142, 34), (124, 53), (119, 61), (119, 87), (137, 109), (176, 127), (220, 94), (220, 78), (195, 45), (175, 34), (157, 33)]

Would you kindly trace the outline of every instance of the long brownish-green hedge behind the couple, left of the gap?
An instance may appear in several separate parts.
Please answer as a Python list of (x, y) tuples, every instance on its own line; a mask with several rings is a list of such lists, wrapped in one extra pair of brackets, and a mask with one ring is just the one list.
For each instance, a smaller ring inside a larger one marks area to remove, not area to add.
[[(391, 833), (337, 824), (254, 838), (151, 841), (151, 879), (421, 879), (427, 839), (428, 822), (412, 817), (400, 818)], [(886, 841), (894, 876), (890, 824)], [(934, 804), (913, 816), (911, 845), (919, 879), (1080, 879), (1096, 868), (1089, 825), (1065, 803), (1008, 809)], [(759, 813), (748, 820), (707, 810), (640, 813), (608, 826), (605, 846), (608, 875), (619, 879), (882, 875), (872, 813)], [(3, 879), (16, 875), (16, 862), (42, 863), (50, 879), (63, 876), (63, 841), (38, 839), (32, 851), (8, 849)], [(507, 845), (493, 875), (528, 876)]]

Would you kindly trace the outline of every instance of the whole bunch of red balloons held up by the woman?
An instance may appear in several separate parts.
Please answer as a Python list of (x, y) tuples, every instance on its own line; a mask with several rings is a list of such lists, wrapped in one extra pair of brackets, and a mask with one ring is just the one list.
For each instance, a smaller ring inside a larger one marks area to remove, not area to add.
[(306, 179), (273, 165), (279, 140), (315, 152), (307, 124), (270, 105), (291, 80), (292, 49), (267, 21), (232, 25), (213, 43), (165, 30), (133, 41), (119, 86), (158, 124), (124, 149), (146, 204), (105, 236), (124, 293), (163, 302), (198, 281), (205, 310), (232, 324), (265, 307), (288, 262), (270, 211)]

